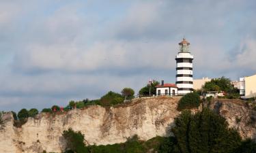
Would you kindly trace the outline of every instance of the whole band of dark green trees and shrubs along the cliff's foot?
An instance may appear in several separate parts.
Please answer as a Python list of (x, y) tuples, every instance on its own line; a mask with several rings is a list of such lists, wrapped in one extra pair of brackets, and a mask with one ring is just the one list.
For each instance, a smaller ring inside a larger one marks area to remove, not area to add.
[(63, 132), (68, 141), (66, 152), (162, 152), (162, 153), (255, 153), (256, 143), (251, 139), (242, 141), (238, 132), (229, 129), (225, 118), (210, 109), (191, 114), (185, 110), (175, 118), (175, 127), (171, 129), (173, 137), (155, 137), (149, 141), (139, 141), (137, 137), (126, 143), (107, 146), (85, 146), (84, 135), (80, 132)]

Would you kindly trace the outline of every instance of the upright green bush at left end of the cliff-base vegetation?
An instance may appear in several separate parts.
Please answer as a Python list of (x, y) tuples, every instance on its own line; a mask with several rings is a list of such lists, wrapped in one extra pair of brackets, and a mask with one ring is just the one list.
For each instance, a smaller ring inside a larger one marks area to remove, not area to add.
[(66, 150), (72, 150), (77, 153), (89, 152), (83, 143), (85, 137), (81, 131), (75, 132), (72, 129), (68, 129), (68, 131), (63, 131), (62, 136), (66, 140)]

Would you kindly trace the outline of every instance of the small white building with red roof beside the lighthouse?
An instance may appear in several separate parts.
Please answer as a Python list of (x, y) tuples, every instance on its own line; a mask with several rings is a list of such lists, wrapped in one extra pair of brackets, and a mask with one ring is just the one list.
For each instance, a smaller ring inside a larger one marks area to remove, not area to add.
[(162, 84), (156, 86), (157, 96), (177, 96), (177, 86), (175, 84), (165, 84), (162, 80)]

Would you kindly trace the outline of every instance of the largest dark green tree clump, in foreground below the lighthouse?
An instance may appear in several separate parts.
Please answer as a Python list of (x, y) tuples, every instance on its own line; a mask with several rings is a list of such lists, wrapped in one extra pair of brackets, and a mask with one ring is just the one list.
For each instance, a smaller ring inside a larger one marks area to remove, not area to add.
[(225, 118), (210, 109), (203, 109), (195, 115), (189, 110), (183, 111), (175, 118), (171, 131), (174, 138), (170, 138), (171, 144), (165, 144), (162, 152), (233, 153), (241, 144), (239, 133), (229, 129)]

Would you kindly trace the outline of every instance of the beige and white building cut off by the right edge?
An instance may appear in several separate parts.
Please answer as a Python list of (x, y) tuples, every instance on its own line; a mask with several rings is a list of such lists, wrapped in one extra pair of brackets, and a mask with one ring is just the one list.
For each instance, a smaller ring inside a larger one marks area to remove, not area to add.
[(256, 74), (240, 78), (240, 95), (242, 98), (256, 97)]

